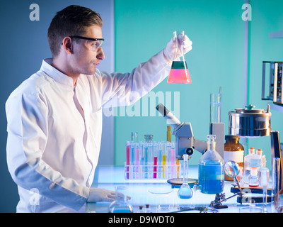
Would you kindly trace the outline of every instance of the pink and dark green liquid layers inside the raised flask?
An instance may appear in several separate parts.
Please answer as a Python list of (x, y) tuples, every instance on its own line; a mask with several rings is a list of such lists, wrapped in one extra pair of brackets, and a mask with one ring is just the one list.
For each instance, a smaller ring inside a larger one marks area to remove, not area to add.
[(187, 69), (187, 62), (184, 65), (183, 61), (173, 61), (171, 71), (168, 77), (168, 84), (190, 84), (190, 73)]

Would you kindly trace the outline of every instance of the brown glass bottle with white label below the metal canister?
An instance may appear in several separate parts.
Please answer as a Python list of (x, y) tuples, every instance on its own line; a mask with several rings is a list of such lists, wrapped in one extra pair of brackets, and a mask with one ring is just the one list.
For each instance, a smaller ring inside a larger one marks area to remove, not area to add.
[[(226, 143), (224, 144), (224, 162), (234, 161), (238, 163), (239, 166), (243, 167), (243, 156), (244, 150), (243, 145), (238, 143), (240, 139), (236, 135), (225, 135)], [(233, 178), (225, 175), (225, 180), (233, 181)]]

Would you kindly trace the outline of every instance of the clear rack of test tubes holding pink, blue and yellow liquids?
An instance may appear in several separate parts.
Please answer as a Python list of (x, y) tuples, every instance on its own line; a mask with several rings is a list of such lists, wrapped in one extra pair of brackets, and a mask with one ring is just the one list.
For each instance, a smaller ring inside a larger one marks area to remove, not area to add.
[(125, 179), (172, 179), (180, 170), (175, 143), (126, 141)]

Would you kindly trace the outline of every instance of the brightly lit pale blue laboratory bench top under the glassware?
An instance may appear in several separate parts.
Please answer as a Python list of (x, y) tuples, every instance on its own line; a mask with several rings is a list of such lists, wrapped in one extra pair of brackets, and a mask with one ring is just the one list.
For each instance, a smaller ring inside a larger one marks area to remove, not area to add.
[[(180, 212), (183, 209), (192, 209), (207, 207), (214, 201), (215, 194), (203, 194), (200, 191), (194, 191), (191, 199), (180, 199), (178, 197), (178, 188), (173, 188), (166, 179), (125, 179), (125, 167), (100, 166), (96, 169), (96, 175), (92, 187), (105, 188), (115, 191), (115, 187), (125, 186), (125, 194), (130, 196), (129, 204), (134, 207), (134, 213), (139, 211), (139, 206), (149, 204), (151, 213), (171, 213)], [(188, 178), (197, 179), (198, 168), (191, 166), (189, 168)], [(228, 198), (234, 193), (231, 192), (233, 182), (225, 181), (224, 192)], [(190, 185), (193, 187), (193, 185)], [(255, 196), (262, 196), (257, 194)], [(86, 213), (108, 213), (108, 202), (87, 203)], [(228, 206), (225, 209), (217, 209), (217, 213), (256, 213), (261, 212), (262, 203), (240, 204), (237, 203), (237, 196), (222, 202), (222, 205)], [(195, 211), (182, 211), (190, 213), (200, 213)], [(268, 213), (277, 213), (273, 203), (267, 204)]]

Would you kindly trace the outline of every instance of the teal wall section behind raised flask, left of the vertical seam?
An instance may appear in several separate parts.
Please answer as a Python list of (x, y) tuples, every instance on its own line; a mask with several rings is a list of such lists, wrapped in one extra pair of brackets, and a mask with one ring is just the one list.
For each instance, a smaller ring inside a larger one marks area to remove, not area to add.
[[(165, 79), (154, 92), (172, 92), (172, 99), (173, 92), (180, 92), (180, 121), (192, 123), (195, 138), (207, 140), (209, 94), (221, 86), (221, 115), (227, 133), (228, 112), (242, 107), (244, 100), (243, 4), (224, 0), (116, 0), (115, 70), (131, 71), (162, 50), (173, 31), (184, 30), (193, 43), (192, 51), (185, 55), (192, 84), (167, 84)], [(120, 116), (119, 111), (115, 118), (115, 165), (124, 165), (125, 140), (130, 140), (132, 131), (137, 131), (141, 140), (145, 133), (152, 133), (156, 141), (166, 140), (166, 121), (157, 113), (129, 117)], [(190, 165), (197, 165), (199, 158), (195, 151)]]

